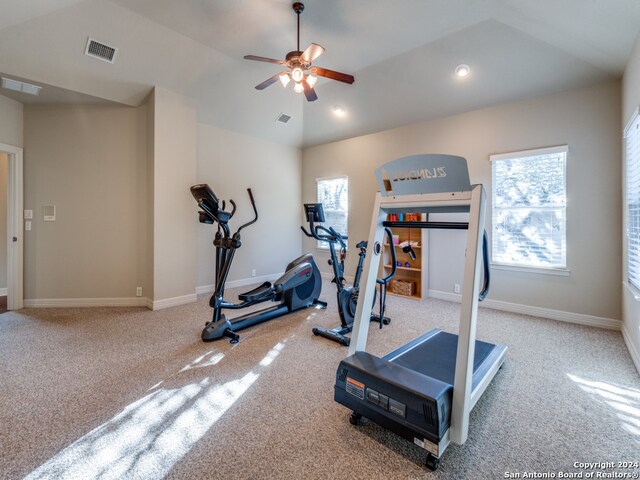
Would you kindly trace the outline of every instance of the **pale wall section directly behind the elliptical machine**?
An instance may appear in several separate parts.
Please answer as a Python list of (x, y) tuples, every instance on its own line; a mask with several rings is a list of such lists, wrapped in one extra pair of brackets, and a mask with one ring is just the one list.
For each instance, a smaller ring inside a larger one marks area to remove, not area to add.
[[(220, 199), (237, 203), (230, 224), (235, 229), (252, 218), (247, 195), (251, 188), (258, 221), (242, 231), (229, 281), (251, 281), (282, 273), (300, 255), (301, 219), (300, 150), (198, 125), (198, 183), (208, 183)], [(214, 282), (213, 237), (215, 227), (199, 224), (197, 206), (191, 200), (191, 221), (198, 226), (197, 285)], [(245, 283), (245, 282), (243, 282)]]

